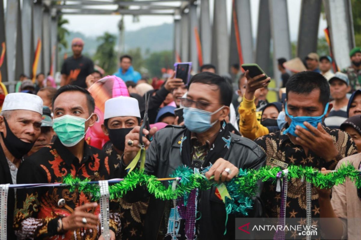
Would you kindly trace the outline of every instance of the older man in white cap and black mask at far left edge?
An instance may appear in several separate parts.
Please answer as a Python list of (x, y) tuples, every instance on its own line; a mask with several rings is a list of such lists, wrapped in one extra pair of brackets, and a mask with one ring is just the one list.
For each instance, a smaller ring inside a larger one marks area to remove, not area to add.
[[(36, 139), (42, 124), (43, 100), (22, 92), (6, 95), (0, 113), (0, 184), (16, 184), (18, 168)], [(13, 230), (14, 190), (8, 191), (7, 238)], [(1, 216), (3, 218), (4, 216)]]

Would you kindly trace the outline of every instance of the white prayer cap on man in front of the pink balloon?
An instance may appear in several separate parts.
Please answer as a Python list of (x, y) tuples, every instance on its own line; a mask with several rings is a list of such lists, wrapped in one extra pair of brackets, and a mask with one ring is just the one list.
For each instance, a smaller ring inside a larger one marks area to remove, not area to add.
[(106, 100), (104, 119), (125, 116), (140, 118), (138, 100), (123, 96)]

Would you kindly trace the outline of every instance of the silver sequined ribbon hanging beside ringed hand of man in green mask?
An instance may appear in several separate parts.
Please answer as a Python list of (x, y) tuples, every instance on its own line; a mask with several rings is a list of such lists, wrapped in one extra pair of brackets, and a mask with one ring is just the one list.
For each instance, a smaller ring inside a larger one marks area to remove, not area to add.
[(110, 239), (109, 232), (109, 187), (108, 181), (99, 181), (100, 186), (100, 223), (101, 234), (105, 240)]

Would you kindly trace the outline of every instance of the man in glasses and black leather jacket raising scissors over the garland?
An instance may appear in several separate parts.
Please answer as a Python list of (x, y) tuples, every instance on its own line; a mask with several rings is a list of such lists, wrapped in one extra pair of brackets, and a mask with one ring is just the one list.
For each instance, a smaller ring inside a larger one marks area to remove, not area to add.
[[(145, 172), (165, 178), (179, 166), (186, 165), (195, 171), (201, 171), (213, 164), (205, 176), (208, 179), (214, 176), (214, 181), (225, 182), (237, 176), (239, 168), (262, 167), (265, 153), (254, 142), (231, 133), (227, 127), (225, 118), (230, 112), (231, 100), (232, 87), (223, 77), (209, 72), (193, 76), (187, 97), (182, 99), (185, 126), (167, 126), (154, 135), (151, 143), (143, 137), (143, 142), (149, 145)], [(126, 136), (122, 166), (127, 166), (139, 151), (139, 131), (140, 128), (135, 127)], [(152, 135), (147, 130), (143, 133)], [(168, 182), (164, 184), (168, 185)], [(195, 226), (194, 237), (211, 240), (235, 238), (235, 215), (229, 215), (225, 227), (225, 204), (217, 197), (215, 187), (199, 191), (198, 197), (193, 199), (195, 200), (188, 200), (187, 208), (197, 205), (197, 211), (201, 212), (201, 217), (191, 223)], [(172, 239), (173, 229), (167, 226), (171, 226), (174, 217), (179, 216), (175, 210), (171, 210), (174, 209), (172, 206), (171, 201), (150, 196), (144, 222), (146, 239)], [(250, 212), (249, 216), (259, 216), (259, 207), (260, 202), (255, 199), (255, 212)], [(184, 239), (183, 224), (190, 220), (178, 218), (177, 221), (177, 239)], [(192, 237), (189, 236), (188, 239)]]

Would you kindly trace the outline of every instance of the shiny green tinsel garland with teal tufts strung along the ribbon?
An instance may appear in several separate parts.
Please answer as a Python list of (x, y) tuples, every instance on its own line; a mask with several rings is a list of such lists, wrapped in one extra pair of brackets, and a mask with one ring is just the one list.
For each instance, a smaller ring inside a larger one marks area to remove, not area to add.
[[(277, 173), (282, 171), (280, 167), (265, 166), (258, 170), (240, 169), (238, 176), (234, 177), (230, 182), (226, 182), (227, 190), (232, 199), (226, 199), (226, 212), (242, 213), (247, 215), (247, 210), (252, 208), (252, 197), (258, 192), (258, 181), (277, 180)], [(127, 192), (133, 190), (138, 185), (147, 186), (150, 194), (157, 199), (171, 200), (187, 195), (192, 189), (200, 190), (209, 189), (212, 185), (217, 185), (214, 181), (206, 179), (202, 173), (193, 173), (192, 169), (186, 166), (177, 168), (170, 177), (180, 177), (181, 180), (175, 191), (172, 190), (171, 184), (166, 187), (156, 176), (147, 175), (143, 171), (134, 170), (124, 178), (123, 181), (109, 185), (110, 199), (117, 199), (124, 196)], [(281, 177), (284, 177), (282, 172)], [(352, 164), (343, 164), (338, 171), (323, 174), (318, 169), (312, 167), (290, 166), (288, 167), (287, 178), (303, 178), (307, 182), (311, 182), (314, 186), (321, 189), (331, 188), (334, 185), (342, 184), (346, 178), (355, 182), (357, 188), (361, 188), (361, 176)], [(88, 184), (90, 180), (81, 181), (78, 177), (73, 178), (67, 175), (63, 179), (63, 183), (70, 185), (70, 191), (77, 188), (79, 191), (91, 194), (93, 200), (99, 199), (99, 186), (96, 184)], [(171, 181), (170, 181), (171, 182)]]

